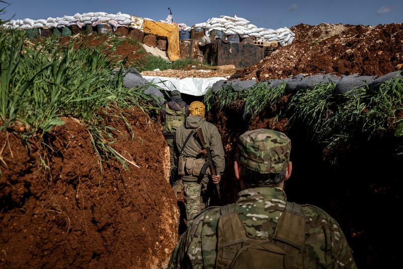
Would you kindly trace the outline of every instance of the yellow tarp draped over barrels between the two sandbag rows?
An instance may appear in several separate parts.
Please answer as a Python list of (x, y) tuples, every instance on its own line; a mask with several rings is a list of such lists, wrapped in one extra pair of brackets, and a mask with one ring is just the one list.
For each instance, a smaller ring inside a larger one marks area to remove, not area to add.
[(179, 28), (175, 24), (144, 20), (143, 31), (168, 39), (168, 58), (171, 61), (179, 59)]

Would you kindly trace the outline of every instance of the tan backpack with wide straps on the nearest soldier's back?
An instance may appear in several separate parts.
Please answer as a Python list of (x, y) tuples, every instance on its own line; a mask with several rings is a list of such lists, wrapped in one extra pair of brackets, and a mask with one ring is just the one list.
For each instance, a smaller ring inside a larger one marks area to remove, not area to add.
[(235, 204), (221, 207), (215, 268), (303, 268), (305, 218), (301, 205), (287, 202), (273, 235), (246, 236)]

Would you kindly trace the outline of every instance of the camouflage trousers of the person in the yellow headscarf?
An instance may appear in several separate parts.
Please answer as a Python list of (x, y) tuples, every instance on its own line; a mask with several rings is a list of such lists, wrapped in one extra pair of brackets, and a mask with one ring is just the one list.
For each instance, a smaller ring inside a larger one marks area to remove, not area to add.
[(188, 221), (193, 220), (201, 210), (209, 207), (211, 195), (207, 188), (208, 183), (209, 177), (204, 177), (200, 183), (183, 181), (183, 196)]

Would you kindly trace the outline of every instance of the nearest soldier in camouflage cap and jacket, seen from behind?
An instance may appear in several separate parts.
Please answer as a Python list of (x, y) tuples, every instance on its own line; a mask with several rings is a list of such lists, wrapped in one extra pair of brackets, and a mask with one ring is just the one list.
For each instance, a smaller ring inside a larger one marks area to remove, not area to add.
[[(291, 141), (284, 133), (258, 129), (242, 134), (234, 162), (235, 177), (243, 189), (238, 193), (237, 201), (232, 206), (210, 207), (195, 217), (180, 237), (168, 267), (228, 268), (231, 260), (235, 262), (232, 258), (235, 253), (227, 251), (226, 255), (223, 254), (226, 250), (234, 250), (233, 245), (223, 245), (225, 236), (231, 238), (233, 234), (243, 234), (249, 242), (275, 240), (276, 246), (297, 250), (295, 259), (284, 259), (284, 263), (289, 262), (284, 267), (356, 268), (346, 237), (334, 219), (316, 206), (287, 202), (283, 187), (292, 171), (290, 151)], [(290, 204), (294, 206), (291, 211)], [(227, 214), (231, 207), (234, 212)], [(293, 213), (296, 211), (299, 213)], [(227, 221), (236, 224), (237, 220), (240, 223), (238, 228), (236, 225), (225, 226)], [(279, 232), (279, 226), (285, 227), (287, 222), (295, 220), (301, 222), (290, 225), (287, 233)], [(281, 241), (279, 235), (292, 239)], [(248, 246), (244, 239), (239, 241)], [(234, 252), (239, 252), (239, 249), (238, 246)], [(240, 260), (241, 255), (236, 257)], [(251, 257), (244, 263), (246, 265), (239, 267), (268, 267), (269, 259), (261, 259), (258, 255)], [(274, 267), (282, 268), (283, 260), (278, 261), (281, 264)]]

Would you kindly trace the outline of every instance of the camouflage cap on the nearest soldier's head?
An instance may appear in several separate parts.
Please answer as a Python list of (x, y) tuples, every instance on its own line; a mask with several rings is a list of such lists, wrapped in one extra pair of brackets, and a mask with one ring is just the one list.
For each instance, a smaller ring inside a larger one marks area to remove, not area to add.
[(284, 133), (257, 129), (238, 140), (240, 165), (260, 174), (280, 173), (290, 161), (291, 140)]

